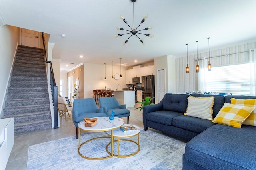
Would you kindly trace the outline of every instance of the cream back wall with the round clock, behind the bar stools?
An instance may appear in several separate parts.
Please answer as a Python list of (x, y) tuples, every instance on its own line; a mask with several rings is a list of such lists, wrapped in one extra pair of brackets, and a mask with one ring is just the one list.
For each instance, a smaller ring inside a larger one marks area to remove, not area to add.
[[(125, 70), (126, 67), (122, 67), (122, 77), (119, 80), (111, 79), (112, 77), (112, 65), (106, 65), (106, 80), (105, 77), (105, 65), (104, 64), (92, 64), (84, 63), (84, 98), (93, 97), (93, 90), (111, 88), (116, 90), (116, 85), (119, 89), (127, 88), (125, 83)], [(120, 74), (120, 67), (113, 66), (113, 75), (115, 73)]]

